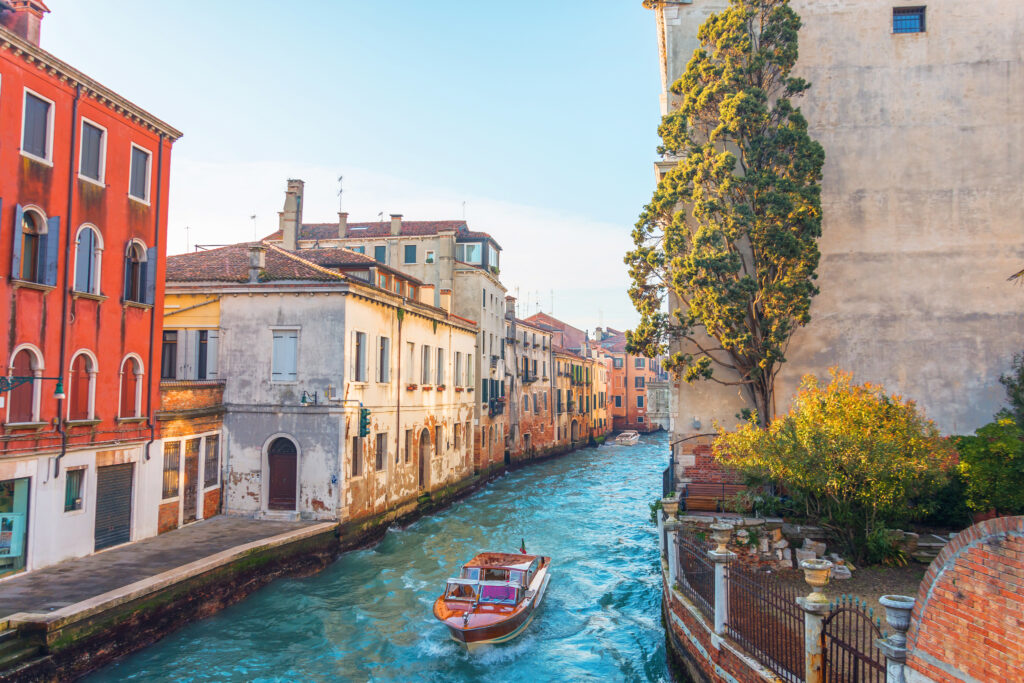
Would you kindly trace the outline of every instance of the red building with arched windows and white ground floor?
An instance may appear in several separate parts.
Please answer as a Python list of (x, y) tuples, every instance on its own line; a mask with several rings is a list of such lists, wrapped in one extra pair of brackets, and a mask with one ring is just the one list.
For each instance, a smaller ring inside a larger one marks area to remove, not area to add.
[(47, 11), (0, 2), (0, 575), (152, 536), (140, 502), (160, 496), (153, 349), (181, 134), (40, 49)]

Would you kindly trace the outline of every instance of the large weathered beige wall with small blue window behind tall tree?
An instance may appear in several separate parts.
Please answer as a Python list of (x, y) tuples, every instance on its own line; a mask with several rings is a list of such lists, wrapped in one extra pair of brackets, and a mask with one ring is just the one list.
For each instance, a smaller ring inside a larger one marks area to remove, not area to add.
[[(662, 102), (726, 0), (648, 0)], [(1024, 3), (793, 0), (803, 19), (799, 100), (825, 150), (823, 237), (811, 323), (777, 384), (830, 367), (912, 398), (945, 433), (1004, 401), (997, 378), (1024, 349)], [(653, 125), (653, 122), (651, 122)], [(673, 160), (663, 160), (660, 170)], [(735, 424), (744, 397), (681, 383), (679, 436)]]

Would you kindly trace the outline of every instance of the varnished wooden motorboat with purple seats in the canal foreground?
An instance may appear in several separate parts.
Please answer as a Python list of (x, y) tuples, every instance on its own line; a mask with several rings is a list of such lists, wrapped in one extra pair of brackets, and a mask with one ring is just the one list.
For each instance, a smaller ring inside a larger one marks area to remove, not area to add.
[(532, 621), (550, 579), (550, 557), (480, 553), (449, 579), (434, 616), (472, 648), (512, 640)]

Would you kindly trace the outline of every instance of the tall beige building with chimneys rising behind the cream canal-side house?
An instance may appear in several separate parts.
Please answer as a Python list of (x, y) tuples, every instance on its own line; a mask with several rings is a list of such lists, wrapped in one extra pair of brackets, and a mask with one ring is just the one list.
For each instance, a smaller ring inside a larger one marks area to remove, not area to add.
[[(266, 241), (286, 249), (345, 247), (383, 266), (400, 270), (432, 287), (432, 301), (451, 298), (451, 310), (477, 326), (473, 353), (476, 401), (473, 410), (474, 466), (477, 471), (501, 465), (505, 457), (508, 416), (505, 412), (505, 294), (498, 279), (501, 246), (486, 232), (470, 230), (466, 221), (304, 223), (304, 184), (289, 180), (282, 229)], [(430, 299), (430, 297), (426, 297)]]

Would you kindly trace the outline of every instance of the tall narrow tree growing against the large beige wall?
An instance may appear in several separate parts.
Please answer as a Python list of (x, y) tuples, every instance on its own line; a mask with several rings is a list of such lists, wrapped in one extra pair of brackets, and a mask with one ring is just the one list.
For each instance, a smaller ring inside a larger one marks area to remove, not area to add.
[(641, 314), (627, 349), (654, 357), (682, 342), (666, 370), (744, 387), (765, 424), (817, 294), (824, 151), (793, 103), (810, 87), (791, 76), (800, 26), (788, 0), (730, 0), (700, 27), (672, 85), (681, 104), (658, 128), (659, 153), (681, 161), (626, 256)]

